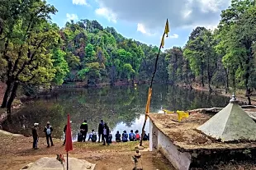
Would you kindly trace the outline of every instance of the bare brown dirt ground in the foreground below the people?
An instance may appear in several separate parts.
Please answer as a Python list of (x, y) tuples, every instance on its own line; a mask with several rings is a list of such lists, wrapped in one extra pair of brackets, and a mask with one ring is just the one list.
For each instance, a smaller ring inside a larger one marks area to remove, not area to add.
[[(4, 170), (18, 170), (26, 164), (35, 162), (42, 157), (55, 157), (56, 154), (65, 154), (62, 141), (54, 140), (55, 145), (46, 148), (45, 138), (40, 138), (39, 149), (32, 148), (31, 137), (7, 136), (0, 133), (0, 164)], [(132, 156), (138, 142), (113, 143), (102, 145), (101, 143), (73, 143), (73, 151), (69, 157), (85, 159), (90, 163), (96, 163), (96, 170), (131, 170), (134, 168)], [(144, 142), (145, 148), (149, 142)], [(141, 160), (139, 166), (146, 170), (174, 170), (167, 159), (159, 153), (149, 152), (148, 149), (140, 151)], [(142, 163), (142, 164), (141, 164)]]

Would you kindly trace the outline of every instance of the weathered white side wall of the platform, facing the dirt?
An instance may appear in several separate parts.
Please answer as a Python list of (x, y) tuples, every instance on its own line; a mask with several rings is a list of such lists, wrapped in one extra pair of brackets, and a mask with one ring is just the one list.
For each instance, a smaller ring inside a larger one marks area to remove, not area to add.
[[(178, 170), (188, 170), (191, 163), (191, 154), (178, 151), (178, 147), (168, 137), (154, 126), (153, 122), (149, 122), (149, 150), (159, 150)], [(152, 136), (152, 137), (151, 137)]]

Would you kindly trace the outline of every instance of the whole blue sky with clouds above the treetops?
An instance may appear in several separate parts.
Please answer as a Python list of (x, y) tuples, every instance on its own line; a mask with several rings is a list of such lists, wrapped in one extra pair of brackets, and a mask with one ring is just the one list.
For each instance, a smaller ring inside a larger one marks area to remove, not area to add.
[(220, 12), (231, 0), (47, 0), (58, 12), (53, 22), (97, 20), (104, 28), (114, 27), (126, 38), (159, 46), (168, 18), (170, 33), (164, 48), (183, 47), (197, 26), (214, 29)]

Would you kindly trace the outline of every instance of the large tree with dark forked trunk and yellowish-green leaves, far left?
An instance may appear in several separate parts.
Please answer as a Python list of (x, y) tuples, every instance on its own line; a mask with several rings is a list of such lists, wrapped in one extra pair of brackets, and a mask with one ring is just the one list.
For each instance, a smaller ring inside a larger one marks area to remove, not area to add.
[(0, 38), (1, 57), (7, 63), (7, 90), (1, 107), (7, 107), (7, 113), (11, 113), (18, 85), (45, 84), (55, 77), (51, 53), (47, 49), (58, 44), (59, 28), (48, 23), (50, 14), (55, 14), (56, 9), (45, 1), (4, 0), (1, 3), (3, 7), (10, 9), (4, 15), (13, 14), (10, 18), (1, 16), (5, 18), (6, 30)]

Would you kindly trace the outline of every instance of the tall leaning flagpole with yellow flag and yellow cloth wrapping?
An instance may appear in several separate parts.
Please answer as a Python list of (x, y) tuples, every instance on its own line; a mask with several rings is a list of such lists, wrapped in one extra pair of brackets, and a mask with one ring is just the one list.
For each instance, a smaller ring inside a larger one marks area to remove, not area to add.
[(164, 35), (166, 34), (166, 30), (167, 30), (166, 26), (167, 25), (168, 25), (168, 20), (166, 21), (166, 25), (165, 25), (165, 28), (164, 28), (164, 34), (162, 36), (161, 44), (159, 46), (159, 53), (158, 53), (158, 55), (155, 59), (155, 63), (154, 63), (154, 72), (153, 72), (153, 76), (151, 78), (150, 87), (149, 87), (148, 101), (147, 101), (147, 106), (146, 106), (146, 111), (145, 111), (145, 121), (144, 121), (144, 124), (142, 126), (142, 134), (141, 134), (141, 138), (140, 138), (140, 146), (142, 146), (142, 140), (143, 140), (143, 137), (145, 136), (145, 125), (146, 125), (147, 118), (148, 118), (147, 114), (149, 113), (149, 105), (150, 105), (152, 85), (153, 85), (153, 81), (154, 81), (154, 75), (155, 75), (155, 72), (156, 72), (156, 69), (157, 69), (157, 64), (158, 64), (158, 61), (159, 61), (159, 54), (160, 54), (161, 48), (164, 46), (163, 39), (164, 39)]

